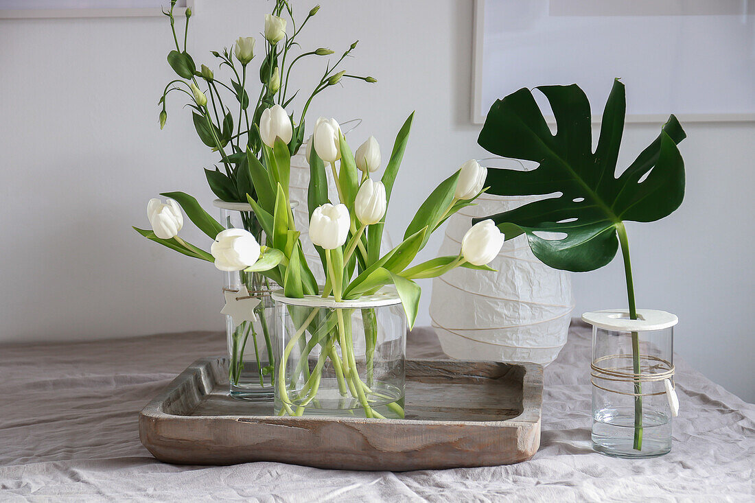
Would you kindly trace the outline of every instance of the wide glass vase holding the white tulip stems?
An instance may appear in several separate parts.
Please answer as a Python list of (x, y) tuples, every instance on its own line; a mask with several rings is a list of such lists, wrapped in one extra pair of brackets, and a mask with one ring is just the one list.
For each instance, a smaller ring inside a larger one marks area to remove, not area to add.
[(404, 417), (406, 316), (395, 289), (273, 300), (277, 415)]

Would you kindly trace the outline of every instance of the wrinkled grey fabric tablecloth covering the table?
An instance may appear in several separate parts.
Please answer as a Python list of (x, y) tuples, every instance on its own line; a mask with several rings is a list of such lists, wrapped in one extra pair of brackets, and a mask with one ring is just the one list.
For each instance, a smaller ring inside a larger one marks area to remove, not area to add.
[[(607, 458), (590, 449), (590, 331), (545, 370), (541, 447), (495, 468), (406, 473), (279, 463), (227, 467), (156, 461), (140, 409), (186, 366), (222, 354), (193, 332), (114, 341), (0, 346), (0, 500), (31, 501), (753, 501), (755, 406), (676, 358), (680, 417), (670, 454)], [(430, 329), (409, 356), (442, 356)]]

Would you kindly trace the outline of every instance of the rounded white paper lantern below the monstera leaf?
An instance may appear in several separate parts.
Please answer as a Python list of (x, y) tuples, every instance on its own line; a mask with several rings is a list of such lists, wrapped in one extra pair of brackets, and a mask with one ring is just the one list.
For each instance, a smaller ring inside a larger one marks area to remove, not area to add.
[[(472, 218), (536, 199), (483, 194), (448, 219), (439, 255), (458, 255)], [(555, 360), (574, 309), (569, 273), (539, 261), (524, 235), (505, 242), (490, 266), (498, 272), (458, 267), (433, 279), (430, 318), (445, 353), (460, 360)]]

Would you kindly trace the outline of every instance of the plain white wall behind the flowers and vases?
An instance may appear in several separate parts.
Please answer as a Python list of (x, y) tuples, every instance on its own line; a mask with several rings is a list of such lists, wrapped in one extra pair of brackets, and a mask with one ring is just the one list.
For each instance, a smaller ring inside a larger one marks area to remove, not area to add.
[[(374, 134), (387, 158), (393, 135), (417, 111), (389, 214), (398, 237), (431, 182), (484, 156), (479, 126), (469, 121), (472, 2), (321, 3), (302, 42), (338, 50), (359, 39), (348, 68), (380, 82), (331, 89), (310, 117), (361, 117), (351, 141)], [(268, 8), (196, 4), (190, 49), (198, 64), (237, 35), (260, 32)], [(147, 225), (146, 201), (159, 192), (185, 190), (207, 206), (213, 199), (202, 167), (214, 157), (197, 140), (188, 111), (171, 100), (168, 125), (157, 125), (156, 103), (172, 78), (170, 48), (163, 17), (0, 20), (0, 340), (222, 328), (220, 273), (131, 230)], [(299, 75), (318, 69), (315, 63), (323, 60), (302, 65)], [(623, 156), (639, 152), (659, 126), (628, 126)], [(676, 350), (752, 401), (755, 126), (686, 129), (685, 203), (665, 221), (629, 226), (638, 304), (679, 314)], [(208, 245), (198, 233), (186, 237)], [(574, 283), (575, 313), (625, 304), (618, 260)], [(425, 286), (421, 324), (429, 324)]]

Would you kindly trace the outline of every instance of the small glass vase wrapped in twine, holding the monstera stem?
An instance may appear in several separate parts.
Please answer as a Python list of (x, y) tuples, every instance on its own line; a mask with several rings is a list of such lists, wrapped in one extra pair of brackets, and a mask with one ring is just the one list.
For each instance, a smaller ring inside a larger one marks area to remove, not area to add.
[(616, 458), (655, 458), (671, 450), (673, 326), (658, 310), (584, 313), (593, 326), (593, 449)]

